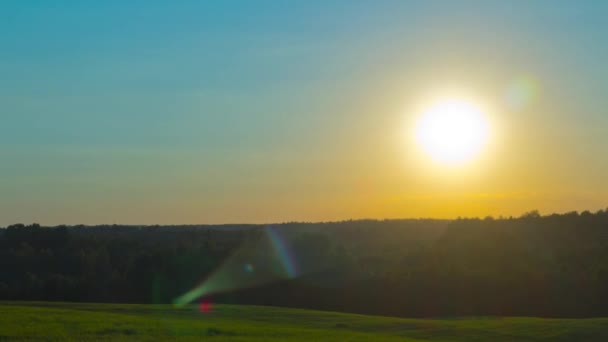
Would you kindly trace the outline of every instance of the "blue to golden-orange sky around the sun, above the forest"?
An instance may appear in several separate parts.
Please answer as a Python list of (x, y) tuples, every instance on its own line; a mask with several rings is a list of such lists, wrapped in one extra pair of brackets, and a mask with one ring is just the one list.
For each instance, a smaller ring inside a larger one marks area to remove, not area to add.
[[(2, 1), (0, 225), (608, 207), (605, 1)], [(490, 142), (438, 165), (430, 99)]]

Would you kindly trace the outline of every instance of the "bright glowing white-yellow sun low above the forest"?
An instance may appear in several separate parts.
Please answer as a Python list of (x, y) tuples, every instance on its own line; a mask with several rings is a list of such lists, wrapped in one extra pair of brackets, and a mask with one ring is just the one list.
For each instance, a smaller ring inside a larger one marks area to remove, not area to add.
[(422, 112), (416, 142), (433, 160), (460, 164), (475, 158), (489, 140), (486, 114), (471, 101), (444, 99)]

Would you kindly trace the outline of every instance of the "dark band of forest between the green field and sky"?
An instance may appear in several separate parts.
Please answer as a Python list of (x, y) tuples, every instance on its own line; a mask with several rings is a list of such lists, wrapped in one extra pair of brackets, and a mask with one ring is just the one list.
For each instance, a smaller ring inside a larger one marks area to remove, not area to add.
[(607, 316), (608, 210), (275, 225), (15, 224), (0, 229), (0, 300)]

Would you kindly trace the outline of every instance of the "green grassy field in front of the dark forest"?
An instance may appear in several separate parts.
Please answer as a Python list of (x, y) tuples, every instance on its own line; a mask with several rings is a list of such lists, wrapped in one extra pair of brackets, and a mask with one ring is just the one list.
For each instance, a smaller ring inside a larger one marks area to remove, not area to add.
[(402, 319), (259, 306), (0, 302), (5, 340), (608, 341), (608, 318)]

